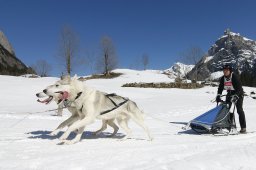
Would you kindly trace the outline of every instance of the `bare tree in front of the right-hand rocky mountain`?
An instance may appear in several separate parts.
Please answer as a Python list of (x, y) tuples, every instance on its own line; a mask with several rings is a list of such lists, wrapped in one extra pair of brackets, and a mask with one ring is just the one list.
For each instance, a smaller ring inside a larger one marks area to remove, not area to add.
[(193, 64), (195, 65), (195, 80), (197, 81), (197, 74), (198, 74), (198, 68), (197, 68), (197, 63), (200, 61), (200, 59), (205, 55), (203, 50), (200, 47), (191, 47), (185, 50), (184, 52), (181, 53), (181, 57), (183, 58), (183, 61), (186, 64)]

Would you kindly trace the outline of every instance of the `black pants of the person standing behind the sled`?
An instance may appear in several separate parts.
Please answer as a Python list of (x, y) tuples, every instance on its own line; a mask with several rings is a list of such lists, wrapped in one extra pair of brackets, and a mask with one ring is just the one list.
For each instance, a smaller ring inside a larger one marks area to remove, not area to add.
[[(231, 104), (231, 97), (227, 96), (226, 102)], [(243, 110), (243, 101), (244, 101), (244, 96), (239, 96), (239, 99), (236, 102), (236, 109), (237, 113), (239, 115), (239, 123), (241, 128), (246, 128), (246, 120), (245, 120), (245, 114)], [(231, 105), (230, 105), (231, 107)]]

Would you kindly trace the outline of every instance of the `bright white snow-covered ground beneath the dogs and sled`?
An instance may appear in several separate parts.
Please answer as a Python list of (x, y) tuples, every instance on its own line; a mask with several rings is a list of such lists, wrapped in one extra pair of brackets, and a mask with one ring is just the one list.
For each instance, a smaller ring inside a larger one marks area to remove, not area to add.
[[(40, 104), (35, 96), (57, 78), (0, 76), (0, 169), (256, 169), (256, 133), (215, 137), (181, 129), (185, 122), (215, 107), (210, 100), (215, 98), (216, 87), (196, 90), (123, 88), (121, 85), (129, 82), (171, 80), (159, 71), (118, 71), (124, 75), (85, 83), (137, 102), (147, 113), (145, 121), (154, 136), (153, 141), (148, 141), (144, 131), (133, 122), (129, 124), (132, 139), (118, 140), (124, 135), (121, 129), (116, 137), (106, 137), (112, 132), (111, 128), (92, 136), (90, 132), (101, 126), (101, 121), (96, 121), (86, 127), (81, 142), (58, 145), (60, 135), (51, 137), (49, 133), (70, 114), (65, 110), (63, 117), (54, 116), (54, 112), (46, 110), (55, 109), (56, 104)], [(256, 90), (244, 89), (247, 93)], [(248, 131), (256, 130), (255, 102), (249, 97), (244, 99)]]

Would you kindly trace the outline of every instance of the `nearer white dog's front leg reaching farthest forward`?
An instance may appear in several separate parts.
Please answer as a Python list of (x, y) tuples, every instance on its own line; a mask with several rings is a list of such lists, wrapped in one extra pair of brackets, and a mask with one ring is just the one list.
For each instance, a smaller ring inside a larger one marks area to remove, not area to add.
[(60, 140), (66, 140), (71, 132), (75, 131), (76, 129), (78, 129), (79, 131), (80, 128), (91, 124), (93, 120), (94, 119), (92, 118), (92, 116), (86, 116), (82, 120), (73, 123), (71, 126), (69, 126), (68, 130), (60, 137)]

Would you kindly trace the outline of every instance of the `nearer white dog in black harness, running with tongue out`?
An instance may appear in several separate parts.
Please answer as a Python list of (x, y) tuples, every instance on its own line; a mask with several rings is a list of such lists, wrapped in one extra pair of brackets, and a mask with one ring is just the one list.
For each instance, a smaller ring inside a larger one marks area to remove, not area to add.
[[(73, 144), (80, 141), (85, 126), (93, 123), (96, 118), (101, 120), (116, 119), (120, 127), (127, 133), (124, 139), (131, 136), (131, 130), (127, 124), (131, 118), (145, 130), (149, 140), (152, 140), (149, 130), (144, 124), (143, 112), (137, 107), (135, 102), (129, 99), (108, 95), (89, 88), (78, 81), (76, 77), (58, 81), (54, 85), (47, 87), (44, 92), (49, 96), (56, 93), (60, 94), (60, 99), (65, 105), (74, 106), (80, 117), (60, 137), (65, 144)], [(70, 133), (77, 129), (76, 137), (70, 141), (66, 140)]]

